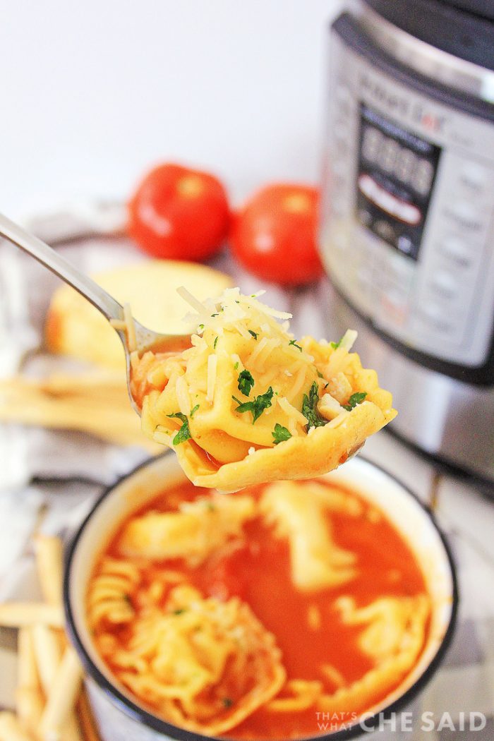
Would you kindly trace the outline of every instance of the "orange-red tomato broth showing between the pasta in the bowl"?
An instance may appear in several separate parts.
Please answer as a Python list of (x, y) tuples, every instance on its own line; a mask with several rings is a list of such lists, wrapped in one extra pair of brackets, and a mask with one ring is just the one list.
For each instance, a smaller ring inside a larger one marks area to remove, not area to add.
[[(324, 485), (324, 481), (320, 483)], [(334, 484), (331, 486), (335, 488)], [(250, 488), (241, 494), (249, 494), (258, 501), (264, 488)], [(159, 582), (160, 574), (165, 570), (178, 571), (183, 574), (184, 582), (198, 588), (205, 597), (225, 600), (236, 596), (247, 602), (258, 620), (276, 637), (288, 680), (322, 682), (324, 691), (330, 694), (337, 691), (341, 683), (348, 686), (356, 682), (373, 669), (375, 659), (358, 645), (363, 625), (345, 625), (342, 622), (341, 613), (336, 608), (338, 598), (350, 596), (357, 608), (363, 608), (381, 597), (413, 597), (427, 594), (427, 589), (410, 547), (387, 518), (356, 491), (338, 488), (357, 499), (362, 507), (358, 516), (327, 512), (327, 527), (331, 529), (336, 545), (356, 556), (356, 576), (350, 581), (320, 591), (298, 591), (292, 581), (287, 539), (276, 536), (273, 526), (261, 516), (256, 516), (244, 524), (244, 542), (234, 542), (231, 547), (219, 549), (195, 568), (187, 566), (183, 559), (162, 562), (136, 559), (136, 563), (144, 567), (141, 590), (131, 598), (136, 614), (145, 610), (150, 586)], [(196, 488), (187, 482), (164, 491), (136, 514), (175, 511), (180, 502), (208, 496), (212, 496), (211, 490)], [(121, 557), (119, 541), (124, 526), (106, 551), (115, 559)], [(156, 601), (156, 595), (154, 599)], [(159, 599), (164, 606), (166, 590)], [(423, 644), (427, 639), (428, 620)], [(104, 632), (108, 631), (113, 631), (119, 645), (127, 644), (128, 625), (106, 626)], [(94, 632), (97, 644), (100, 631), (96, 629)], [(110, 670), (114, 670), (111, 656), (105, 660)], [(326, 671), (328, 665), (336, 671)], [(330, 726), (327, 725), (328, 711), (323, 717), (316, 705), (290, 712), (261, 707), (224, 736), (238, 740), (290, 740), (334, 731), (338, 726), (351, 725), (359, 714), (384, 700), (403, 678), (404, 675), (398, 677), (393, 686), (387, 686), (384, 694), (382, 689), (376, 688), (365, 706), (357, 704), (344, 710), (338, 707), (330, 713)], [(280, 696), (284, 696), (283, 691)], [(139, 702), (144, 704), (142, 700)], [(147, 707), (159, 714), (155, 705)]]

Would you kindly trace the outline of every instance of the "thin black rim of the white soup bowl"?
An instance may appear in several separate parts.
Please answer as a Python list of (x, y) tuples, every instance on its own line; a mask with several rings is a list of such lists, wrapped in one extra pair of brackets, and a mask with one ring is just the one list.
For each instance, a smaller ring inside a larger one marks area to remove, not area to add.
[[(159, 459), (164, 458), (164, 456), (168, 456), (173, 454), (171, 451), (163, 453), (163, 455), (158, 456)], [(407, 689), (404, 694), (402, 694), (400, 697), (398, 697), (396, 700), (394, 700), (390, 705), (387, 705), (386, 707), (379, 710), (376, 714), (374, 714), (371, 717), (366, 717), (365, 719), (365, 729), (360, 725), (359, 720), (357, 720), (353, 725), (347, 728), (343, 728), (341, 731), (333, 731), (329, 734), (318, 734), (315, 736), (309, 736), (305, 737), (304, 739), (297, 739), (296, 741), (315, 741), (316, 739), (318, 741), (344, 741), (347, 739), (355, 738), (356, 736), (360, 734), (364, 734), (365, 731), (372, 731), (375, 728), (378, 728), (378, 722), (381, 719), (389, 718), (393, 713), (401, 711), (405, 705), (408, 705), (418, 694), (419, 692), (424, 688), (425, 685), (427, 685), (427, 682), (430, 681), (430, 679), (433, 677), (433, 674), (435, 674), (435, 671), (437, 670), (438, 666), (441, 663), (441, 660), (444, 657), (444, 654), (447, 651), (447, 648), (449, 648), (451, 639), (453, 638), (453, 634), (455, 631), (455, 625), (456, 625), (456, 618), (458, 614), (458, 580), (456, 576), (456, 568), (455, 568), (455, 562), (453, 560), (453, 555), (451, 553), (450, 545), (447, 542), (447, 538), (442, 532), (441, 528), (438, 525), (437, 520), (435, 519), (435, 515), (430, 510), (430, 508), (424, 504), (424, 502), (421, 502), (421, 500), (418, 498), (418, 496), (413, 492), (406, 484), (400, 481), (396, 476), (394, 476), (393, 473), (390, 473), (389, 471), (386, 471), (385, 468), (382, 468), (382, 466), (374, 463), (373, 461), (370, 461), (365, 456), (358, 456), (361, 460), (365, 461), (366, 463), (369, 463), (370, 465), (373, 465), (374, 468), (378, 469), (378, 471), (381, 471), (381, 473), (384, 473), (385, 476), (392, 479), (395, 484), (398, 484), (409, 496), (412, 496), (413, 499), (415, 499), (415, 502), (418, 502), (418, 505), (424, 510), (425, 514), (429, 517), (430, 521), (433, 524), (433, 527), (435, 528), (435, 531), (437, 531), (438, 536), (441, 539), (441, 543), (444, 548), (444, 552), (447, 556), (447, 561), (450, 568), (450, 574), (451, 574), (451, 581), (453, 585), (452, 590), (452, 605), (451, 605), (451, 615), (450, 615), (450, 622), (447, 626), (447, 630), (444, 633), (444, 638), (441, 641), (441, 644), (438, 647), (438, 650), (435, 652), (433, 658), (431, 659), (430, 663), (427, 665), (427, 667), (422, 672), (421, 676), (418, 677), (418, 679), (415, 680), (413, 685)], [(133, 700), (130, 700), (130, 697), (127, 697), (127, 695), (123, 694), (119, 688), (117, 688), (115, 685), (113, 685), (107, 677), (102, 674), (102, 672), (99, 670), (99, 668), (96, 666), (96, 664), (93, 662), (93, 659), (91, 659), (89, 653), (87, 652), (87, 649), (84, 646), (84, 643), (79, 638), (79, 634), (76, 628), (76, 622), (73, 616), (73, 610), (72, 605), (70, 603), (70, 571), (72, 569), (73, 565), (73, 558), (76, 554), (77, 546), (79, 544), (79, 540), (81, 539), (81, 536), (84, 534), (84, 530), (90, 522), (90, 519), (93, 517), (93, 514), (96, 512), (96, 510), (101, 505), (101, 502), (106, 499), (108, 495), (112, 493), (112, 491), (121, 484), (121, 482), (124, 482), (126, 479), (129, 479), (131, 476), (134, 476), (138, 471), (140, 471), (141, 468), (145, 468), (147, 465), (151, 465), (153, 462), (156, 462), (158, 458), (153, 459), (147, 459), (144, 462), (142, 462), (140, 465), (136, 466), (136, 468), (133, 468), (132, 471), (129, 473), (126, 473), (124, 476), (121, 476), (116, 482), (114, 482), (112, 485), (107, 487), (101, 496), (96, 500), (93, 507), (90, 509), (89, 514), (84, 518), (84, 521), (79, 526), (79, 529), (77, 530), (75, 536), (73, 536), (73, 539), (71, 539), (70, 544), (67, 548), (67, 557), (65, 561), (65, 569), (64, 569), (64, 585), (63, 585), (63, 593), (64, 593), (64, 610), (65, 610), (65, 618), (66, 618), (66, 628), (67, 633), (70, 636), (70, 640), (73, 643), (73, 645), (76, 648), (76, 651), (79, 654), (79, 659), (81, 659), (81, 663), (84, 666), (85, 670), (87, 671), (87, 674), (93, 679), (94, 682), (96, 682), (97, 685), (99, 685), (99, 688), (104, 692), (104, 695), (107, 700), (109, 700), (113, 705), (116, 705), (119, 710), (121, 710), (127, 717), (130, 717), (132, 720), (142, 723), (144, 725), (147, 725), (149, 728), (153, 728), (153, 731), (158, 731), (158, 733), (164, 734), (165, 736), (170, 737), (170, 739), (174, 739), (176, 741), (224, 741), (224, 737), (218, 738), (214, 736), (204, 736), (203, 734), (198, 734), (193, 731), (186, 731), (184, 728), (179, 728), (177, 725), (173, 725), (173, 723), (169, 723), (166, 720), (161, 720), (161, 718), (158, 718), (156, 715), (153, 715), (150, 713), (150, 711), (145, 710), (144, 708), (141, 708), (140, 705), (138, 705), (136, 702), (133, 702)], [(364, 714), (363, 714), (364, 715)], [(279, 740), (273, 740), (273, 741), (284, 741), (283, 739)]]

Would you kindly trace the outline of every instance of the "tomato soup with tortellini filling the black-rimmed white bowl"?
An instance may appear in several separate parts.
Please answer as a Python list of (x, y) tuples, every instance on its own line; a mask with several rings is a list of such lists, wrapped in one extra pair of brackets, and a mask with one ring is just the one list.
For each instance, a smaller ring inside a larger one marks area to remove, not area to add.
[(319, 479), (178, 485), (121, 525), (87, 593), (96, 650), (134, 701), (238, 740), (357, 722), (413, 671), (429, 617), (400, 534)]

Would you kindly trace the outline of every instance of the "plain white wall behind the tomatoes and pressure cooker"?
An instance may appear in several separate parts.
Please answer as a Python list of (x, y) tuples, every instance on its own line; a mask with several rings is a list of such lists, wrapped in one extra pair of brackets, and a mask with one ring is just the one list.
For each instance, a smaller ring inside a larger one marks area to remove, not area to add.
[(317, 182), (341, 0), (2, 4), (0, 211), (124, 197), (156, 162), (218, 174), (238, 203)]

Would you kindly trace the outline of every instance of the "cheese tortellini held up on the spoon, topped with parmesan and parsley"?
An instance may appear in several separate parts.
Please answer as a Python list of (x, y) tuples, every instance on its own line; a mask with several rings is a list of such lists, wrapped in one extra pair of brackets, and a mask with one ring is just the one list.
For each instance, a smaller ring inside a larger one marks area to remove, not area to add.
[[(294, 339), (290, 314), (238, 288), (198, 302), (192, 346), (136, 353), (142, 429), (176, 451), (194, 484), (221, 491), (332, 471), (395, 416), (375, 371), (339, 342)], [(282, 324), (280, 323), (283, 322)]]

